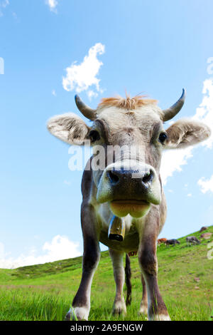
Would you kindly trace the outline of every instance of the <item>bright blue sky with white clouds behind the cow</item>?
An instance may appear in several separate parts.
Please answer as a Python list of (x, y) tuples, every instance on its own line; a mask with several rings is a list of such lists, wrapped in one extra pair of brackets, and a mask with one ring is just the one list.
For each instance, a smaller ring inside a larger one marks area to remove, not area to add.
[[(46, 130), (53, 115), (80, 115), (76, 92), (92, 108), (125, 90), (167, 108), (185, 87), (175, 119), (213, 130), (212, 12), (212, 0), (0, 0), (0, 267), (82, 254), (82, 172)], [(213, 224), (212, 142), (166, 153), (161, 237)]]

